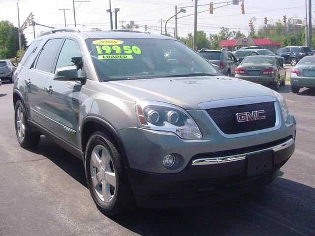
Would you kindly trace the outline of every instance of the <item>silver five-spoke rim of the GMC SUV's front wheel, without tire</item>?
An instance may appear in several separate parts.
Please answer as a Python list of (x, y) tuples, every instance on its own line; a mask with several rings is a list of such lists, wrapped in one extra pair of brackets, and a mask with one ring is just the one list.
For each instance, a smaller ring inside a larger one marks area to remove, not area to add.
[(107, 148), (97, 145), (93, 148), (90, 160), (91, 179), (100, 200), (109, 203), (115, 195), (116, 175)]

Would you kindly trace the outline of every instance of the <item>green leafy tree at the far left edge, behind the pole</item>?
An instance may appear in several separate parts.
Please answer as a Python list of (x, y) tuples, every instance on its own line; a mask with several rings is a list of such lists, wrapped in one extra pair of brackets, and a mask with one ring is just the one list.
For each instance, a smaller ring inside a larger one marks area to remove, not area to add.
[[(25, 35), (22, 34), (22, 48), (27, 48)], [(19, 31), (9, 21), (0, 21), (0, 58), (14, 58), (19, 50)]]

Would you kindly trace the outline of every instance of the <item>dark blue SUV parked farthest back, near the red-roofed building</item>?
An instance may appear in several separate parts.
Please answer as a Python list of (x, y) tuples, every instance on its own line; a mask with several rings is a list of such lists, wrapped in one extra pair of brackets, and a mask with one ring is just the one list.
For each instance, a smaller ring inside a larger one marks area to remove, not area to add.
[(284, 58), (285, 63), (295, 66), (296, 63), (305, 56), (313, 55), (311, 48), (307, 46), (287, 46), (275, 52), (276, 55)]

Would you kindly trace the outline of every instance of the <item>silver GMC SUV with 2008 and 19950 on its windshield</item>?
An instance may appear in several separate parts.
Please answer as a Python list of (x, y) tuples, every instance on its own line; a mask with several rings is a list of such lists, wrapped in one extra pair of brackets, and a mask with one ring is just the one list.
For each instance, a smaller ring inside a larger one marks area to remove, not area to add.
[[(168, 60), (171, 51), (185, 59)], [(17, 68), (13, 104), (20, 146), (45, 135), (81, 158), (108, 215), (253, 191), (295, 148), (296, 122), (279, 93), (222, 76), (161, 35), (46, 32)]]

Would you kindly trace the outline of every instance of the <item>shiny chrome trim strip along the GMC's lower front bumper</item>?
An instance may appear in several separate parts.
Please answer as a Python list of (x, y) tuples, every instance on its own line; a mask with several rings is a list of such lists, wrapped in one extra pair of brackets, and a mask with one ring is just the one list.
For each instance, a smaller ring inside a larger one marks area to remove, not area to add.
[(232, 156), (221, 156), (221, 157), (213, 157), (213, 158), (202, 158), (202, 159), (196, 159), (193, 160), (191, 165), (192, 166), (197, 166), (197, 165), (210, 165), (210, 164), (219, 164), (219, 163), (226, 163), (226, 162), (231, 162), (231, 161), (239, 161), (239, 160), (245, 160), (247, 155), (251, 155), (251, 154), (256, 154), (262, 151), (269, 151), (269, 150), (274, 150), (274, 151), (280, 151), (284, 148), (288, 148), (291, 145), (294, 144), (294, 140), (293, 139), (289, 139), (288, 141), (270, 147), (270, 148), (264, 148), (264, 149), (260, 149), (257, 151), (252, 151), (252, 152), (246, 152), (246, 153), (242, 153), (242, 154), (238, 154), (238, 155), (232, 155)]

